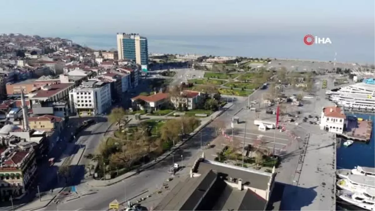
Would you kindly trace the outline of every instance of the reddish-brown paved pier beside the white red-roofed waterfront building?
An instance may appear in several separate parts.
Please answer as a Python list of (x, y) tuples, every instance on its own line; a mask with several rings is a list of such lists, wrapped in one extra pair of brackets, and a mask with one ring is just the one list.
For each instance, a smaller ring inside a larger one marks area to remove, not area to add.
[(372, 133), (372, 121), (357, 119), (348, 119), (347, 131), (342, 134), (337, 134), (337, 137), (342, 137), (354, 141), (369, 142)]

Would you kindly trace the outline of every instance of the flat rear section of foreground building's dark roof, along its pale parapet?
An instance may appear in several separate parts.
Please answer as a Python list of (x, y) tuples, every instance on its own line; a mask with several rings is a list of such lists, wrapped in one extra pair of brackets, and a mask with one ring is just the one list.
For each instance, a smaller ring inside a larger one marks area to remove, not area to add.
[(238, 166), (231, 165), (220, 165), (218, 162), (213, 161), (202, 161), (199, 162), (199, 166), (196, 170), (197, 173), (206, 172), (207, 170), (213, 169), (219, 173), (219, 176), (223, 176), (224, 179), (229, 180), (229, 177), (242, 179), (242, 184), (257, 188), (260, 190), (267, 190), (268, 182), (270, 181), (271, 174), (266, 172), (258, 172), (256, 170), (250, 170)]

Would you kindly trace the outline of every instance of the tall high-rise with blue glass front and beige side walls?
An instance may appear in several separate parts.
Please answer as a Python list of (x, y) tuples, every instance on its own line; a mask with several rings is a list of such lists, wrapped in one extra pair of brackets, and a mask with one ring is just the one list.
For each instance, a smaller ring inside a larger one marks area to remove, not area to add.
[(118, 60), (131, 60), (142, 69), (148, 65), (147, 38), (138, 34), (117, 33)]

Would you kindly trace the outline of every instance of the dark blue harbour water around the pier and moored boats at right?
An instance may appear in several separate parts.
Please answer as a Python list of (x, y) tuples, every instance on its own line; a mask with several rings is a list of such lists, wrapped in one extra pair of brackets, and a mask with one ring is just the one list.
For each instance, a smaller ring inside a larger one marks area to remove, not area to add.
[[(375, 115), (366, 114), (347, 114), (348, 116), (356, 116), (364, 120), (375, 121)], [(341, 141), (340, 147), (336, 153), (337, 169), (353, 169), (356, 166), (375, 167), (375, 124), (372, 125), (371, 140), (369, 142), (354, 142), (353, 145), (345, 147)], [(336, 202), (337, 210), (345, 211), (362, 211), (365, 209), (358, 208), (353, 205), (347, 205), (346, 202)]]

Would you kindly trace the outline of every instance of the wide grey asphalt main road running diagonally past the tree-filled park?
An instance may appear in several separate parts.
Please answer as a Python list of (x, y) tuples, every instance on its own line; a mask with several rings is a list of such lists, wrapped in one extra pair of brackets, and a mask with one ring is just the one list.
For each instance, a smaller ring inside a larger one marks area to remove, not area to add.
[[(264, 90), (258, 90), (250, 97), (250, 100), (259, 100), (262, 93), (264, 93)], [(246, 107), (247, 103), (248, 100), (246, 97), (235, 98), (233, 106), (223, 112), (223, 114), (218, 118), (220, 121), (224, 121), (226, 125), (229, 125), (231, 117), (233, 117), (240, 109)], [(209, 124), (207, 127), (203, 128), (201, 133), (203, 142), (202, 145), (204, 145), (205, 142), (210, 142), (214, 137), (213, 124)], [(57, 205), (52, 203), (52, 205), (45, 210), (106, 210), (108, 209), (108, 204), (114, 199), (117, 199), (119, 202), (123, 202), (130, 197), (136, 196), (144, 190), (160, 187), (162, 183), (170, 177), (168, 171), (170, 170), (172, 162), (181, 162), (182, 158), (183, 163), (191, 163), (199, 155), (201, 155), (200, 146), (201, 136), (198, 134), (183, 145), (181, 150), (175, 152), (173, 156), (169, 156), (150, 169), (140, 172), (138, 175), (125, 179), (117, 184), (101, 188), (96, 194), (83, 196), (80, 199), (59, 203)], [(181, 157), (181, 155), (183, 156)], [(56, 206), (58, 206), (58, 208)]]

